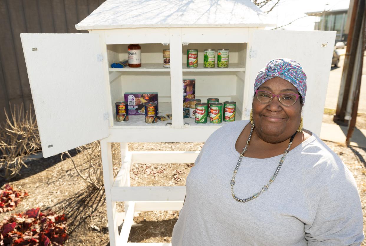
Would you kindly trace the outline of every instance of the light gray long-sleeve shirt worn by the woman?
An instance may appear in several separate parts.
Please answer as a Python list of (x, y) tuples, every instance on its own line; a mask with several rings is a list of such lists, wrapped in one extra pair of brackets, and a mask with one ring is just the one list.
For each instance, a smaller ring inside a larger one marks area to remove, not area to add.
[[(355, 180), (314, 134), (287, 154), (266, 192), (246, 203), (232, 198), (230, 181), (240, 156), (235, 142), (247, 123), (226, 124), (206, 141), (187, 177), (172, 245), (359, 245), (363, 216)], [(259, 192), (281, 156), (243, 157), (235, 194)]]

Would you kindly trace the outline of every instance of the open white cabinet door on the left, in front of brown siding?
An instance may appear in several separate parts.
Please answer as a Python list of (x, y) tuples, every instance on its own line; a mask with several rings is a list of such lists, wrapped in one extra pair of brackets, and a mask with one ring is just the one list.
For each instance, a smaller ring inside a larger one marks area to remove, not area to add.
[(20, 34), (44, 157), (108, 137), (97, 34)]

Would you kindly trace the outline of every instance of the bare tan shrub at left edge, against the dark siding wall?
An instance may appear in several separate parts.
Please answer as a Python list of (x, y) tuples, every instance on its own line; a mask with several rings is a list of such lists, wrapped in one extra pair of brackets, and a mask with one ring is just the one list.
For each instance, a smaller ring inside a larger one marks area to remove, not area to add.
[(5, 122), (0, 124), (0, 176), (9, 180), (19, 174), (30, 154), (41, 149), (36, 116), (32, 106), (25, 111), (23, 104), (10, 105), (10, 115), (5, 111)]

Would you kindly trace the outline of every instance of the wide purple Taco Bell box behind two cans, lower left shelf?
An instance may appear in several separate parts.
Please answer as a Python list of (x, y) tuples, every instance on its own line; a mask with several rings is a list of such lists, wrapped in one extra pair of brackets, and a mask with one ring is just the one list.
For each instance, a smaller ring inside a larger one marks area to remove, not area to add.
[[(128, 115), (145, 115), (145, 103), (158, 104), (157, 92), (126, 92), (124, 101), (128, 104)], [(156, 106), (156, 111), (158, 111)]]

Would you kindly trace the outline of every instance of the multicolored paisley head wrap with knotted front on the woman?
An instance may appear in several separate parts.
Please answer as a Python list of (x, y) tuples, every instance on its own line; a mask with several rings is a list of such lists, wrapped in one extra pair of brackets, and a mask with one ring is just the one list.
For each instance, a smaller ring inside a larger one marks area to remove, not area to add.
[(302, 97), (302, 105), (305, 104), (306, 74), (298, 62), (279, 58), (267, 63), (266, 67), (259, 71), (257, 78), (255, 78), (254, 93), (259, 86), (274, 77), (280, 77), (294, 85)]

